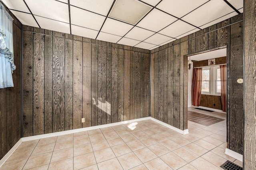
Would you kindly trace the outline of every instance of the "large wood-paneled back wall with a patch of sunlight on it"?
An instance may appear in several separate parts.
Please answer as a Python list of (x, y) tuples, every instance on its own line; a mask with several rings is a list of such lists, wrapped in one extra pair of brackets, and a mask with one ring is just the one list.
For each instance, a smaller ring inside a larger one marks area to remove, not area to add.
[(148, 50), (23, 25), (22, 69), (24, 137), (150, 116)]

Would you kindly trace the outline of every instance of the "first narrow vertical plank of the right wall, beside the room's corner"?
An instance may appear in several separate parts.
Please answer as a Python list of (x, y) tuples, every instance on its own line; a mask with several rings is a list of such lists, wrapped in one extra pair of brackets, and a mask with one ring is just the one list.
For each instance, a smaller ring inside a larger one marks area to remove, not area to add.
[[(132, 68), (131, 68), (132, 69)], [(155, 117), (155, 53), (150, 55), (150, 116)]]

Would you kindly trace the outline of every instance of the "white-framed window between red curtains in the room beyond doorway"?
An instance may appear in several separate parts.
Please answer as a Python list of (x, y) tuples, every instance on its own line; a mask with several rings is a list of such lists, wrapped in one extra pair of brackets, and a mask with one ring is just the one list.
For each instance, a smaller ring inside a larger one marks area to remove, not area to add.
[(220, 66), (204, 67), (202, 69), (202, 94), (220, 96)]

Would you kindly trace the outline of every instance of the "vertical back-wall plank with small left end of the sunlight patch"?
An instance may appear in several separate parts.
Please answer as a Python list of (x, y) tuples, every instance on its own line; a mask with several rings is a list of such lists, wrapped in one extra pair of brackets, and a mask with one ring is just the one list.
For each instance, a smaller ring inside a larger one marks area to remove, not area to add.
[(98, 125), (98, 45), (92, 44), (92, 126)]

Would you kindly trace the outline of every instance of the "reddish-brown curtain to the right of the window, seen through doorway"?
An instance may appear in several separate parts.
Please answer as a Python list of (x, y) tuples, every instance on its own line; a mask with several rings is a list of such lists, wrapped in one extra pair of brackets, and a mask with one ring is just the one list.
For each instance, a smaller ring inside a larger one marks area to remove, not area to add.
[(222, 111), (227, 111), (227, 66), (220, 66), (220, 97), (222, 104)]

